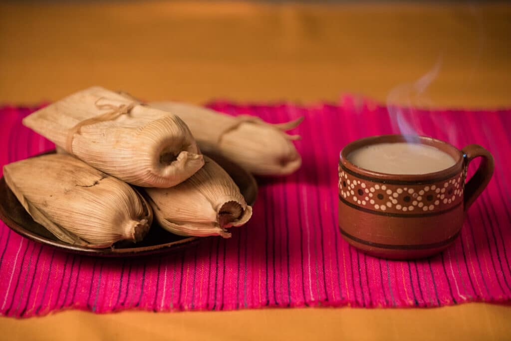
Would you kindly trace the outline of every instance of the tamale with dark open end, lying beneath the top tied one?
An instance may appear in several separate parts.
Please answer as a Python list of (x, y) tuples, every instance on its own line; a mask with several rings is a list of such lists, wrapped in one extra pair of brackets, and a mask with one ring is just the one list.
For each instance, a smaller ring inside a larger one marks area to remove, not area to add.
[(158, 223), (181, 236), (229, 238), (225, 229), (243, 225), (252, 215), (233, 179), (207, 156), (204, 167), (181, 184), (145, 191)]

